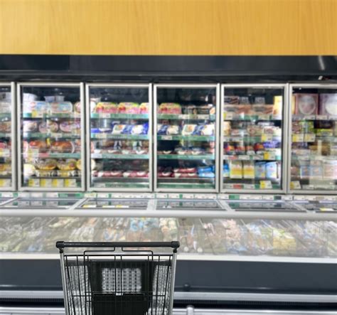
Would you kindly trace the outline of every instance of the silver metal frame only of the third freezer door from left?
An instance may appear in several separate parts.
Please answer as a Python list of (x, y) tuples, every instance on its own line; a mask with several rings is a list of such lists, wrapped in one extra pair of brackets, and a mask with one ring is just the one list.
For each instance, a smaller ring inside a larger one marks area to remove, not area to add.
[(91, 117), (90, 117), (90, 87), (144, 87), (148, 88), (148, 100), (149, 100), (149, 188), (100, 188), (100, 187), (94, 187), (92, 186), (92, 181), (91, 181), (91, 166), (90, 166), (90, 161), (91, 161), (91, 152), (90, 152), (90, 147), (87, 148), (87, 190), (88, 191), (98, 191), (98, 192), (130, 192), (130, 191), (136, 191), (136, 192), (150, 192), (152, 191), (151, 189), (151, 159), (152, 159), (152, 151), (151, 151), (151, 142), (152, 142), (152, 134), (151, 134), (151, 124), (152, 124), (152, 115), (151, 115), (151, 110), (152, 110), (152, 88), (151, 88), (151, 83), (146, 83), (146, 84), (141, 84), (141, 83), (129, 83), (129, 84), (124, 84), (124, 83), (87, 83), (86, 85), (86, 112), (87, 112), (87, 122), (86, 122), (86, 129), (87, 129), (87, 146), (91, 144), (91, 137), (90, 137), (90, 122), (91, 122)]

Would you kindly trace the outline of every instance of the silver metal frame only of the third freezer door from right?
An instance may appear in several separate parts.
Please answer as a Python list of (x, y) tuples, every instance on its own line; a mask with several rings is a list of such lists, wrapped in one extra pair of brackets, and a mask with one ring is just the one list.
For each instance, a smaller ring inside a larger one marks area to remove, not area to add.
[[(155, 156), (155, 161), (154, 161), (154, 166), (155, 166), (155, 185), (154, 185), (154, 191), (155, 192), (166, 192), (166, 193), (191, 193), (191, 192), (195, 192), (195, 193), (217, 193), (218, 189), (217, 189), (217, 178), (215, 176), (215, 182), (214, 182), (214, 188), (212, 189), (195, 189), (195, 188), (159, 188), (158, 187), (158, 177), (157, 177), (157, 169), (158, 169), (158, 163), (157, 163), (157, 135), (156, 135), (156, 130), (157, 130), (157, 118), (156, 118), (156, 111), (157, 111), (157, 88), (158, 87), (168, 87), (168, 88), (214, 88), (215, 89), (215, 96), (218, 96), (218, 89), (219, 89), (219, 84), (155, 84), (154, 85), (154, 156)], [(217, 104), (215, 104), (215, 106), (218, 106), (218, 100), (217, 100)], [(215, 107), (216, 110), (217, 107)], [(218, 113), (215, 113), (216, 115), (218, 115)], [(215, 125), (217, 122), (217, 118), (215, 118)], [(218, 145), (218, 134), (215, 135), (215, 143), (216, 145)], [(215, 169), (216, 169), (216, 165), (217, 165), (217, 150), (215, 149)]]

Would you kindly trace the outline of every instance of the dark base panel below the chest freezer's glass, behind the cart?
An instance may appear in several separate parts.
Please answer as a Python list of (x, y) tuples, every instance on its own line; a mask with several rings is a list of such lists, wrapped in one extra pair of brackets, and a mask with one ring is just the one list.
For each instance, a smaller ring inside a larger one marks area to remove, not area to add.
[[(0, 289), (61, 290), (60, 262), (0, 260)], [(337, 272), (333, 264), (178, 261), (176, 291), (337, 294)]]

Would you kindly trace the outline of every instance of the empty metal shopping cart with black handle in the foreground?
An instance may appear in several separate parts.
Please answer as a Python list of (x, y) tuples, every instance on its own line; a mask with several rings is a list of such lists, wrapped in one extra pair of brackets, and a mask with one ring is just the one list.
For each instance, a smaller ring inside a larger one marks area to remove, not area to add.
[[(65, 314), (172, 314), (179, 242), (56, 242)], [(80, 254), (65, 248), (85, 248)], [(156, 248), (173, 248), (156, 254)]]

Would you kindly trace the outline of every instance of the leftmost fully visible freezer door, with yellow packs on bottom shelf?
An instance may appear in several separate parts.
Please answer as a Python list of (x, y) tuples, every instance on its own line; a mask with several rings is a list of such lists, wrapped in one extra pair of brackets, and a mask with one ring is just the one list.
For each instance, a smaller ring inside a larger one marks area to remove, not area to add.
[(82, 83), (18, 84), (18, 190), (84, 191)]

